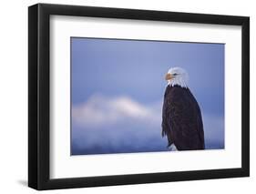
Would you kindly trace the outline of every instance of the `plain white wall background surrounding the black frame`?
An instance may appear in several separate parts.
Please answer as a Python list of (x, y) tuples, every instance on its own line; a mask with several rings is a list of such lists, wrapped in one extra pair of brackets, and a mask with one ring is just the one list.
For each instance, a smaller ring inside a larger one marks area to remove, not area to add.
[[(256, 12), (253, 0), (48, 0), (40, 3), (113, 6), (165, 11), (251, 16), (251, 178), (215, 179), (90, 189), (51, 190), (46, 193), (253, 193), (256, 189)], [(27, 179), (27, 6), (34, 0), (1, 2), (0, 11), (0, 192), (35, 193)]]

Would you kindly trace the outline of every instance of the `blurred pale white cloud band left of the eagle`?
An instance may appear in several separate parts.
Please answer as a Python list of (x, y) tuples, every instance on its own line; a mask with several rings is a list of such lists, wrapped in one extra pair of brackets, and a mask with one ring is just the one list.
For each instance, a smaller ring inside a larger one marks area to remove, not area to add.
[[(158, 106), (156, 106), (158, 105)], [(72, 119), (79, 126), (100, 127), (127, 119), (160, 123), (161, 105), (142, 105), (131, 97), (93, 95), (86, 102), (72, 107)]]

